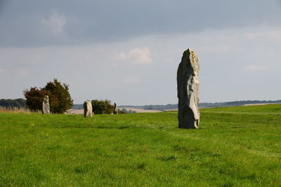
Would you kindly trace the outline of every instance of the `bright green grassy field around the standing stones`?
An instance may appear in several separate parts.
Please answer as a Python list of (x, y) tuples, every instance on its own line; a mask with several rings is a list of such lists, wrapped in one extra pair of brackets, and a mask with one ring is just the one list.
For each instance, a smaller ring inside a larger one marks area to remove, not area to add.
[(0, 186), (281, 186), (281, 105), (177, 113), (0, 113)]

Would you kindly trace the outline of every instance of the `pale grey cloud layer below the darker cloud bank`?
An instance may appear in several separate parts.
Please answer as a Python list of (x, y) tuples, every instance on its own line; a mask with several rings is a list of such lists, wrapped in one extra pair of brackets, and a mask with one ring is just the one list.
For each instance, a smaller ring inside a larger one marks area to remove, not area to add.
[[(176, 103), (176, 69), (183, 50), (191, 47), (200, 60), (201, 102), (280, 99), (276, 85), (281, 38), (270, 40), (274, 34), (280, 36), (272, 28), (252, 27), (89, 46), (0, 48), (0, 84), (5, 88), (0, 98), (22, 97), (22, 90), (44, 87), (58, 78), (70, 84), (75, 103), (85, 99), (111, 99), (119, 104)], [(125, 58), (124, 63), (112, 66), (117, 61), (112, 57), (120, 53), (130, 56), (136, 47), (144, 50), (146, 46), (152, 63), (127, 63)]]

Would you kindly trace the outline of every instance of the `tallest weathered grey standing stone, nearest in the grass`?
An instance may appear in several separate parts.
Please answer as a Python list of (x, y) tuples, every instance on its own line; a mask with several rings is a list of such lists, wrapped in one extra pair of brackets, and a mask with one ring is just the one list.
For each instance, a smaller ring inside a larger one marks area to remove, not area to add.
[(197, 55), (188, 48), (183, 53), (178, 66), (178, 127), (197, 129), (200, 122), (199, 102), (199, 62)]

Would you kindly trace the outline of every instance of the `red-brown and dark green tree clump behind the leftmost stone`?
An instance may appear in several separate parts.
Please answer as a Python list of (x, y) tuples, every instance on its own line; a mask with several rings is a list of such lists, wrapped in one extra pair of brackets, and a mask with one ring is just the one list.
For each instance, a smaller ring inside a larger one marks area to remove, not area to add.
[(48, 82), (44, 88), (30, 88), (24, 91), (27, 99), (27, 107), (32, 110), (42, 110), (42, 102), (45, 95), (48, 95), (50, 111), (52, 113), (64, 113), (73, 105), (70, 97), (69, 85), (63, 85), (54, 78), (53, 82)]

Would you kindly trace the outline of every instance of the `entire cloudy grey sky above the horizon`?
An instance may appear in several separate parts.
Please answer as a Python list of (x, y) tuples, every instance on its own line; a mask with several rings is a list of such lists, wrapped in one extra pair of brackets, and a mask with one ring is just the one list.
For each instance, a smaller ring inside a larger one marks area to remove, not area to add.
[(188, 48), (200, 102), (281, 99), (281, 0), (0, 0), (0, 99), (58, 78), (74, 104), (176, 104)]

